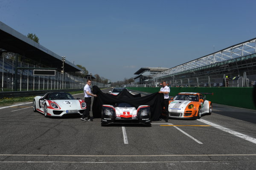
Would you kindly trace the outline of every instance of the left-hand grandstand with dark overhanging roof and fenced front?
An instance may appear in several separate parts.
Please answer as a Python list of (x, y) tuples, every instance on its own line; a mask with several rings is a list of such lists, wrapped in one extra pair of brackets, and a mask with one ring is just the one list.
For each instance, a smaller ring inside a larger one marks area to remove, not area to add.
[[(0, 37), (0, 91), (81, 89), (86, 84), (86, 79), (75, 76), (81, 68), (66, 60), (62, 74), (61, 56), (2, 22)], [(56, 74), (33, 75), (27, 68), (56, 68)]]

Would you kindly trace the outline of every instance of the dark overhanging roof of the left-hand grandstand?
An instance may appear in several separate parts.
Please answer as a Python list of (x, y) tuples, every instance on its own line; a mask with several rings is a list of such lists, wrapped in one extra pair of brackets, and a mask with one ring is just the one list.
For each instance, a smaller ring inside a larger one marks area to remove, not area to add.
[[(34, 40), (20, 34), (16, 30), (0, 22), (0, 48), (7, 52), (15, 52), (32, 61), (37, 61), (45, 66), (62, 70), (62, 58)], [(73, 63), (65, 61), (65, 72), (79, 72), (81, 68)]]

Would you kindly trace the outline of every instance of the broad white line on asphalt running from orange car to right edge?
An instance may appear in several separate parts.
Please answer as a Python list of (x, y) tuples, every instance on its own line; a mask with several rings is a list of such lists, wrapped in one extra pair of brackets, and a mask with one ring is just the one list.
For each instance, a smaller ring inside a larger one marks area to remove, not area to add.
[(256, 144), (256, 138), (252, 138), (250, 136), (244, 135), (244, 134), (236, 132), (234, 130), (230, 130), (230, 129), (226, 128), (226, 127), (222, 127), (222, 126), (220, 126), (218, 124), (214, 124), (212, 122), (209, 122), (209, 121), (206, 121), (206, 120), (203, 120), (203, 119), (197, 119), (197, 120), (201, 121), (201, 122), (203, 122), (205, 124), (209, 124), (212, 127), (215, 127), (217, 129), (223, 130), (224, 132), (230, 133), (230, 134), (235, 135), (235, 136), (237, 136), (239, 138), (243, 138), (243, 139), (245, 139), (247, 141), (250, 141), (250, 142), (253, 142), (254, 144)]

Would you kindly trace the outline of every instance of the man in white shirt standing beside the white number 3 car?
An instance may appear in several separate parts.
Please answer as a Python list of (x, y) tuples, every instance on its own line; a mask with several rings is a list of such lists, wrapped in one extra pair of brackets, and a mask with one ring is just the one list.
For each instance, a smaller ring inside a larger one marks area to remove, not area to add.
[[(84, 86), (84, 102), (86, 103), (86, 109), (83, 112), (83, 115), (81, 117), (84, 121), (93, 121), (92, 118), (90, 118), (90, 105), (91, 105), (91, 98), (92, 96), (97, 97), (97, 95), (93, 95), (90, 90), (90, 85), (92, 81), (90, 79), (87, 79), (86, 85)], [(85, 118), (87, 117), (87, 119)]]

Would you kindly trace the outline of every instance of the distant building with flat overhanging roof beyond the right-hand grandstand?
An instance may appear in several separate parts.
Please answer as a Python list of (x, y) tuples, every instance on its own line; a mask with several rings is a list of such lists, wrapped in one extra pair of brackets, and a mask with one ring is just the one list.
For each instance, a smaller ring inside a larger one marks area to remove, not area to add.
[(145, 84), (148, 83), (150, 80), (151, 75), (154, 75), (158, 72), (163, 72), (164, 70), (169, 68), (163, 68), (163, 67), (142, 67), (137, 72), (134, 73), (134, 75), (137, 75), (134, 77), (134, 83), (135, 84)]

